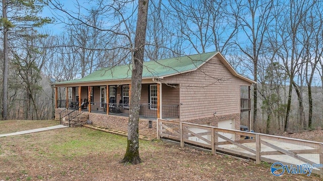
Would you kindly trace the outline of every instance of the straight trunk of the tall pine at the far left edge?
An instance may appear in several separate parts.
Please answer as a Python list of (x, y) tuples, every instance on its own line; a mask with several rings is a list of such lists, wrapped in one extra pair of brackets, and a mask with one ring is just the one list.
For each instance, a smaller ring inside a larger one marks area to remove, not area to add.
[(7, 19), (7, 1), (2, 0), (2, 15), (4, 24), (4, 77), (3, 77), (3, 99), (2, 99), (2, 119), (8, 119), (8, 19)]

